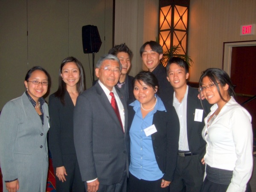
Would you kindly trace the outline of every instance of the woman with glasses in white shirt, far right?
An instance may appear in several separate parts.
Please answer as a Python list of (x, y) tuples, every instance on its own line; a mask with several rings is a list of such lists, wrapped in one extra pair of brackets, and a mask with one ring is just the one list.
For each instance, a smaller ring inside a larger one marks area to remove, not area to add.
[(210, 104), (202, 132), (207, 142), (206, 177), (201, 192), (244, 192), (253, 169), (251, 116), (234, 99), (230, 77), (224, 70), (205, 70), (200, 90)]

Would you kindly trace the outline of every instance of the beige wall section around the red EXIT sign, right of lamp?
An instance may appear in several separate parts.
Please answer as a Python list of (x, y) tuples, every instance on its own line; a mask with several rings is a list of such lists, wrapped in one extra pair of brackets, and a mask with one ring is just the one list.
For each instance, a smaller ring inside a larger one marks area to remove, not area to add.
[(190, 0), (189, 55), (195, 62), (189, 81), (209, 67), (222, 67), (223, 43), (256, 40), (240, 36), (240, 26), (256, 23), (256, 0)]

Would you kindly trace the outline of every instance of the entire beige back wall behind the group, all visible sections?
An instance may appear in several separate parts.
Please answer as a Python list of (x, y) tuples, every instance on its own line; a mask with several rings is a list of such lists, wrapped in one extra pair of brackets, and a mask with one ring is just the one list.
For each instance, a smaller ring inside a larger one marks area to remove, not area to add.
[[(190, 81), (209, 67), (221, 68), (223, 42), (256, 40), (256, 35), (240, 36), (241, 25), (256, 23), (255, 7), (255, 0), (190, 0), (188, 54), (195, 62)], [(23, 93), (24, 76), (34, 65), (49, 71), (53, 93), (58, 67), (68, 56), (82, 62), (89, 88), (92, 54), (83, 53), (81, 27), (99, 29), (96, 62), (112, 47), (112, 11), (112, 0), (0, 0), (0, 109)], [(116, 0), (114, 41), (134, 52), (131, 75), (142, 69), (140, 47), (155, 40), (157, 29), (158, 0)]]

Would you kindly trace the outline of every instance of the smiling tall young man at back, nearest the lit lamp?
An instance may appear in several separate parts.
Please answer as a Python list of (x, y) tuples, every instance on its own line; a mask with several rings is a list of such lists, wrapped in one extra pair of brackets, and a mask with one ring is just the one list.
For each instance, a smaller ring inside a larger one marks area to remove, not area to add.
[(169, 95), (172, 95), (174, 90), (166, 79), (166, 68), (160, 64), (163, 57), (163, 47), (156, 41), (148, 41), (140, 48), (140, 56), (143, 64), (152, 72), (159, 83), (159, 96), (163, 102), (168, 102)]

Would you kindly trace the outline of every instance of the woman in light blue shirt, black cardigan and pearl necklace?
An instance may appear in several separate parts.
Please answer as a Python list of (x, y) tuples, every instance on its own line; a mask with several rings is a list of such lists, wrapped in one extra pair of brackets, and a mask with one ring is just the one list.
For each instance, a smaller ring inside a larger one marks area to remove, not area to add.
[(129, 192), (169, 192), (177, 162), (179, 119), (157, 96), (158, 81), (142, 71), (133, 80), (137, 99), (128, 106), (131, 138)]

